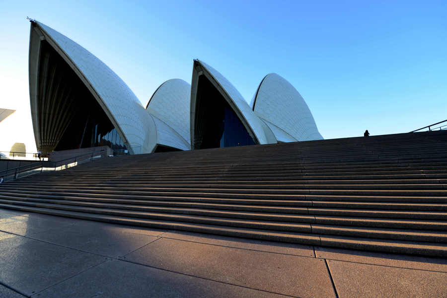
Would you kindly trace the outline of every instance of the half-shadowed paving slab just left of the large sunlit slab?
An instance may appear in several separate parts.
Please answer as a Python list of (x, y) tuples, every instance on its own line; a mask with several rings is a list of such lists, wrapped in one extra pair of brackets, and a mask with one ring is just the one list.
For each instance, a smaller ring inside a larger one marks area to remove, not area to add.
[(155, 236), (129, 233), (121, 227), (95, 222), (74, 224), (51, 233), (34, 234), (32, 238), (114, 258), (126, 255), (157, 239)]

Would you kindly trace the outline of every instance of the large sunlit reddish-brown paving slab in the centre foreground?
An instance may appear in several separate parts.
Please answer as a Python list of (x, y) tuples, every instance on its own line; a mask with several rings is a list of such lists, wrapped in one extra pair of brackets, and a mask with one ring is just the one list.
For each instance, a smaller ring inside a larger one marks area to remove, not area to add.
[(335, 297), (323, 259), (160, 238), (123, 259), (300, 298)]

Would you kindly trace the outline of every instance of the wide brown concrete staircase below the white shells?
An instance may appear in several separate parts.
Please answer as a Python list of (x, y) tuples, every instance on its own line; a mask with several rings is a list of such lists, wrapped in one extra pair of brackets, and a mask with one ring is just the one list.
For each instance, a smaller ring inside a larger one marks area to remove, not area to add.
[(447, 131), (111, 157), (0, 185), (0, 208), (447, 256)]

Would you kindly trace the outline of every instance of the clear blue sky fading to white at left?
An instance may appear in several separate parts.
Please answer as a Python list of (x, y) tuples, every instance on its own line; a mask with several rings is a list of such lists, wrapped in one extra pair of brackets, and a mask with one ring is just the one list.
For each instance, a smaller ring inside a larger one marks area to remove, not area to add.
[(191, 82), (198, 58), (248, 102), (267, 73), (280, 74), (324, 138), (447, 119), (446, 0), (0, 0), (3, 108), (29, 109), (26, 16), (103, 60), (143, 105), (167, 79)]

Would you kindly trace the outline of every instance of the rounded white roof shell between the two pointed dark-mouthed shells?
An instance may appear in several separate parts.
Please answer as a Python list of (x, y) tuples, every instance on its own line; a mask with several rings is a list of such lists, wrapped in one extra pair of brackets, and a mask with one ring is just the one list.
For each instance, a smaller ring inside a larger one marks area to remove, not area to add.
[[(158, 131), (159, 137), (171, 140), (170, 145), (163, 145), (182, 150), (191, 148), (190, 97), (191, 85), (189, 83), (181, 79), (171, 79), (161, 84), (149, 99), (146, 106), (148, 113), (170, 126), (174, 131), (165, 136), (161, 136), (163, 132)], [(162, 126), (163, 124), (157, 125), (160, 128)], [(163, 131), (167, 132), (166, 129)]]

